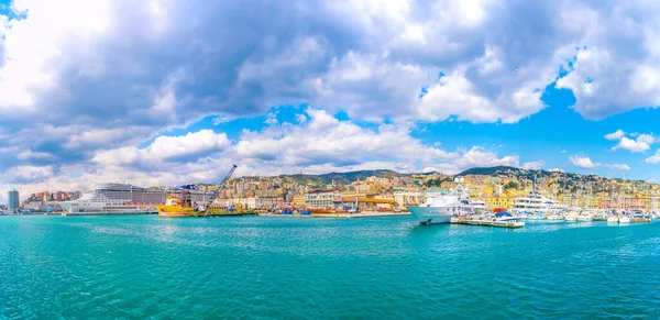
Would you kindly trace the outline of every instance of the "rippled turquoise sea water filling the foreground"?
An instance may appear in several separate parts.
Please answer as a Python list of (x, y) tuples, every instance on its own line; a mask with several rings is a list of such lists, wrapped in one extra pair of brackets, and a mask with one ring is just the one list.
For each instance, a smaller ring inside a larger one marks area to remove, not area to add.
[(660, 223), (0, 217), (1, 319), (660, 318)]

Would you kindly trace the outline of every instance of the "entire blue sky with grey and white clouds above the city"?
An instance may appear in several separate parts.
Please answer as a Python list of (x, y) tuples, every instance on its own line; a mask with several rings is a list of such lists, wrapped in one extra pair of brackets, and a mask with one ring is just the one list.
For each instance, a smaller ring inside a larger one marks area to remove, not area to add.
[[(660, 2), (0, 0), (0, 190), (660, 178)], [(0, 202), (7, 192), (0, 191)]]

